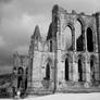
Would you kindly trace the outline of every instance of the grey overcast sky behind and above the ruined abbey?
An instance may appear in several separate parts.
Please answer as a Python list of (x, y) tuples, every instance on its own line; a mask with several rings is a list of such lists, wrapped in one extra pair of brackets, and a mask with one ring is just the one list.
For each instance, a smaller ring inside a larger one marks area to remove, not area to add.
[(11, 71), (14, 51), (28, 52), (35, 26), (47, 35), (54, 4), (71, 12), (87, 14), (100, 11), (100, 0), (0, 0), (0, 73)]

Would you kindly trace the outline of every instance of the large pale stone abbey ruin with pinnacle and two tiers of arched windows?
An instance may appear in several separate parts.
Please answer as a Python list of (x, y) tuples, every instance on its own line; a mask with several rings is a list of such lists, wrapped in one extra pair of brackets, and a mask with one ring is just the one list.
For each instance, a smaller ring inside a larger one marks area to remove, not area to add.
[[(76, 23), (80, 24), (79, 33)], [(30, 38), (27, 91), (46, 95), (98, 91), (99, 87), (100, 13), (68, 13), (54, 5), (46, 40), (38, 26)]]

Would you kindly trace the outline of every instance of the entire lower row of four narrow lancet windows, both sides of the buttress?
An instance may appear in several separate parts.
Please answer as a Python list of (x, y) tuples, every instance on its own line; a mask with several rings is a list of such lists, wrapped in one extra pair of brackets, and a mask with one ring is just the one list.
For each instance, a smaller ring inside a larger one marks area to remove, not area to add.
[[(71, 75), (71, 60), (70, 58), (66, 58), (65, 59), (65, 62), (64, 62), (64, 77), (65, 77), (65, 80), (71, 80), (70, 78), (70, 75)], [(90, 78), (91, 78), (91, 82), (95, 82), (96, 80), (96, 58), (95, 57), (91, 57), (90, 58), (90, 62), (89, 62), (89, 65), (90, 65)], [(75, 67), (75, 66), (73, 66)], [(86, 66), (85, 66), (85, 62), (84, 62), (84, 59), (83, 57), (78, 58), (77, 60), (77, 73), (78, 73), (78, 82), (86, 82)], [(46, 76), (43, 79), (46, 80), (50, 80), (50, 71), (51, 71), (51, 66), (50, 66), (50, 63), (47, 63), (46, 65)], [(72, 73), (73, 74), (73, 73)]]

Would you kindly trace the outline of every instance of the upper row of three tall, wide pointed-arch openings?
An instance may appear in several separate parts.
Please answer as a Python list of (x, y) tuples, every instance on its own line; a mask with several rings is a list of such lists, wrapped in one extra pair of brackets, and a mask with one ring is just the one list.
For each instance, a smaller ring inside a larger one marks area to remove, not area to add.
[(95, 50), (93, 42), (96, 42), (95, 30), (91, 26), (88, 26), (87, 29), (85, 28), (79, 20), (75, 22), (74, 26), (68, 23), (63, 32), (64, 48), (68, 49), (73, 46), (73, 49), (76, 51), (84, 51), (87, 48), (87, 51), (92, 52)]

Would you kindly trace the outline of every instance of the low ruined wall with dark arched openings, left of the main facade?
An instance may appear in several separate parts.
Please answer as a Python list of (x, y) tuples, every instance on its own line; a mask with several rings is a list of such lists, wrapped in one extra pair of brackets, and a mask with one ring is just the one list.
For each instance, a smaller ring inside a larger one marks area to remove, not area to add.
[(29, 57), (20, 55), (17, 52), (13, 54), (13, 83), (12, 87), (15, 87), (15, 91), (18, 89), (26, 91), (28, 87), (28, 65)]

